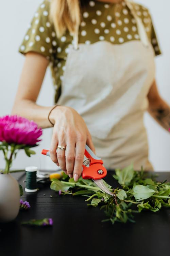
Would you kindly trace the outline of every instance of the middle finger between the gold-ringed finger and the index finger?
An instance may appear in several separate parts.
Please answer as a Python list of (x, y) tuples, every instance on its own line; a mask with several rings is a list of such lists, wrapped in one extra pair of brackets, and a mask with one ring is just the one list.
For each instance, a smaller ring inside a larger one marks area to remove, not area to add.
[(66, 150), (66, 170), (70, 178), (73, 177), (74, 170), (74, 153), (75, 153), (75, 143), (70, 141), (67, 142)]

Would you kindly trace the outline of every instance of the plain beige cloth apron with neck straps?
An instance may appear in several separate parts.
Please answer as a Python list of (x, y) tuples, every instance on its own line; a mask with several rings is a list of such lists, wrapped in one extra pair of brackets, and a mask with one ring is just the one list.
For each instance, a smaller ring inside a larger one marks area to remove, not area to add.
[(133, 162), (136, 170), (141, 165), (152, 170), (143, 114), (154, 80), (154, 51), (141, 20), (133, 10), (132, 14), (141, 40), (78, 45), (78, 35), (74, 37), (57, 104), (70, 106), (82, 116), (106, 168)]

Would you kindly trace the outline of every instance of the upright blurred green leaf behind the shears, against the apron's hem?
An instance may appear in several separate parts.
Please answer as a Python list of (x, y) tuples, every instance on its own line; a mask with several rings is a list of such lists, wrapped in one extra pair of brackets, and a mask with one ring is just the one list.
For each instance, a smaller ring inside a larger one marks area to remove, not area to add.
[(118, 176), (118, 182), (121, 185), (129, 185), (134, 175), (133, 164), (131, 163), (131, 165), (129, 165), (128, 167), (125, 167), (122, 170), (116, 169), (115, 171), (116, 175)]

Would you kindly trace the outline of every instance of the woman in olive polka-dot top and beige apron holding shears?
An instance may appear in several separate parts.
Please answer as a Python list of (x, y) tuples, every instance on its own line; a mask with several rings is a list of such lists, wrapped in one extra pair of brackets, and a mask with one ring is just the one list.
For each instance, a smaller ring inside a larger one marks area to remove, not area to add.
[[(87, 144), (108, 169), (131, 162), (153, 169), (143, 114), (168, 130), (170, 108), (154, 79), (160, 50), (146, 8), (129, 0), (45, 0), (19, 51), (26, 60), (12, 112), (54, 125), (57, 166), (77, 181)], [(38, 106), (49, 64), (57, 106)]]

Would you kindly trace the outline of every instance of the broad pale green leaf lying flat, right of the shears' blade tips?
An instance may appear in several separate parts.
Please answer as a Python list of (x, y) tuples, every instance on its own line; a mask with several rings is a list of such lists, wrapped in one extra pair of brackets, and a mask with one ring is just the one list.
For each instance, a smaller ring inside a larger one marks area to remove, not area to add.
[(135, 185), (133, 187), (133, 195), (136, 201), (141, 201), (147, 199), (155, 194), (155, 190), (148, 188), (147, 186), (143, 185)]

